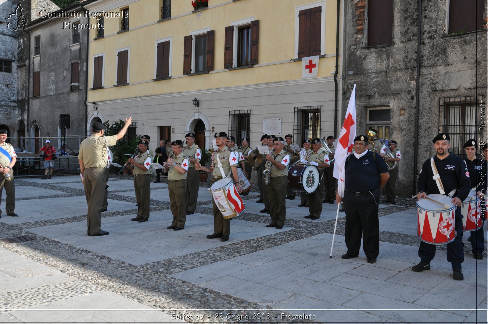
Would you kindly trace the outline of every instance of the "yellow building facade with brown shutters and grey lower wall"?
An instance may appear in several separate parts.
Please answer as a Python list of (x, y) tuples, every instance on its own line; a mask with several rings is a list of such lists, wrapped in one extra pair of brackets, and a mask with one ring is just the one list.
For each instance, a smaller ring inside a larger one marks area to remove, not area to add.
[[(195, 132), (200, 146), (223, 131), (238, 141), (250, 136), (253, 146), (263, 133), (297, 142), (332, 135), (337, 1), (191, 2), (85, 6), (99, 24), (89, 37), (87, 93), (95, 104), (87, 130), (99, 119), (133, 116), (137, 134), (176, 140)], [(319, 56), (317, 75), (302, 78), (302, 57), (311, 56)], [(341, 75), (339, 59), (339, 107)]]

